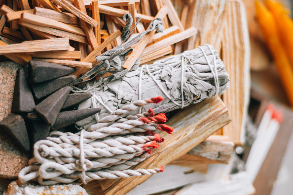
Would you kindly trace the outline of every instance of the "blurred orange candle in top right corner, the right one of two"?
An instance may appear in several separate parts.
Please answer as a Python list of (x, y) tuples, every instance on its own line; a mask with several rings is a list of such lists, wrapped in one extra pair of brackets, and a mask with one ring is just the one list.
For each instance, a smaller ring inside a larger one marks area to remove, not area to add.
[(278, 29), (278, 37), (291, 62), (293, 70), (293, 20), (289, 11), (276, 1), (266, 0), (265, 6), (273, 14)]

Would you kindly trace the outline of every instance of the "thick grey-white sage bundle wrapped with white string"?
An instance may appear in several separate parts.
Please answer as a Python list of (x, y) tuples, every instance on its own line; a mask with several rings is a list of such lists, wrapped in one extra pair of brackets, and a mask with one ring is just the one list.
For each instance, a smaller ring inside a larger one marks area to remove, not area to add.
[[(136, 100), (161, 95), (159, 104), (144, 106), (142, 112), (152, 108), (155, 113), (165, 113), (183, 108), (191, 103), (225, 92), (229, 78), (223, 61), (211, 45), (185, 51), (179, 55), (142, 65), (129, 71), (125, 77), (111, 82), (91, 82), (74, 92), (91, 92), (92, 98), (81, 103), (78, 109), (100, 107), (101, 112), (76, 123), (88, 129), (99, 118)], [(132, 115), (139, 111), (134, 111)], [(140, 110), (141, 112), (141, 110)]]

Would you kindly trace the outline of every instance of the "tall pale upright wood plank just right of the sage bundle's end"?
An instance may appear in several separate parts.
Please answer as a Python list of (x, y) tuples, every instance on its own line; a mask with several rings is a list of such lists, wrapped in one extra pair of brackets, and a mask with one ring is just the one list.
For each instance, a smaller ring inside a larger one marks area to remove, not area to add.
[(229, 74), (230, 87), (223, 94), (223, 102), (229, 109), (232, 122), (223, 128), (223, 135), (230, 137), (235, 144), (242, 144), (250, 95), (250, 48), (245, 8), (241, 1), (228, 3), (224, 26), (222, 60)]

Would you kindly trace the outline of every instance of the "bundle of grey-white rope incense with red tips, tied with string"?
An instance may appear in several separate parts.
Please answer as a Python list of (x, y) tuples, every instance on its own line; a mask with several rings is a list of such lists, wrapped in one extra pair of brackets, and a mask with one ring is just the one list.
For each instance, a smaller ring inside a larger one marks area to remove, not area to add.
[(164, 141), (154, 131), (173, 131), (170, 126), (157, 124), (168, 119), (164, 114), (155, 115), (152, 109), (142, 114), (130, 115), (145, 105), (162, 100), (158, 96), (124, 105), (102, 118), (88, 131), (82, 130), (75, 134), (52, 131), (50, 137), (34, 145), (34, 157), (30, 159), (29, 166), (20, 171), (20, 181), (34, 180), (41, 185), (81, 184), (93, 179), (162, 172), (164, 167), (128, 170), (146, 159), (151, 149), (158, 148), (157, 142)]

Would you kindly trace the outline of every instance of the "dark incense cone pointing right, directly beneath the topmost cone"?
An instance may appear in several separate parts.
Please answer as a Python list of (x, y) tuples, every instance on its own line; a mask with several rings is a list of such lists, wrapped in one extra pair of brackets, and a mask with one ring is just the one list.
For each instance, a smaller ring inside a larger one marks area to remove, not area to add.
[(76, 79), (76, 76), (69, 75), (60, 77), (47, 82), (36, 83), (33, 85), (33, 93), (37, 99), (50, 95), (51, 93), (59, 90), (60, 88), (68, 85)]

